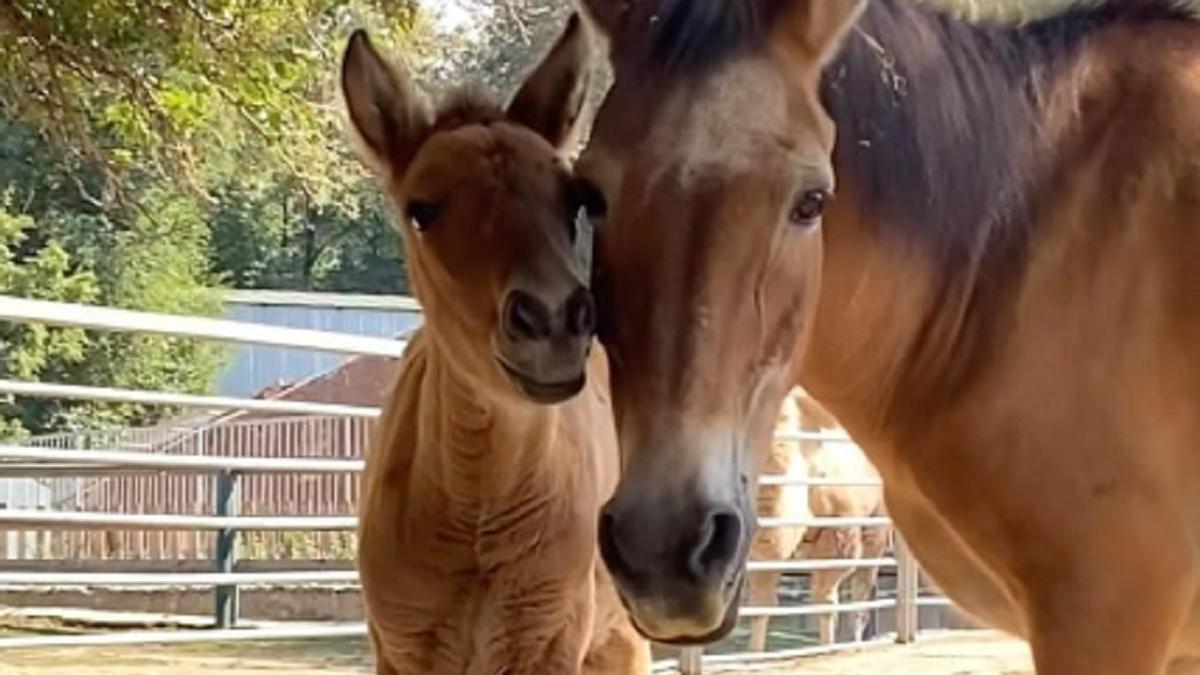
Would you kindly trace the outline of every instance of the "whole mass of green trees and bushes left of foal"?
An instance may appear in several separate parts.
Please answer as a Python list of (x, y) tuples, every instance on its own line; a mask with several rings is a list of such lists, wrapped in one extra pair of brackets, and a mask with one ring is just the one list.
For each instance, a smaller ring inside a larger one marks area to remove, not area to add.
[[(0, 4), (0, 293), (214, 315), (218, 282), (398, 288), (334, 104), (361, 24), (420, 55), (403, 0)], [(36, 325), (0, 324), (0, 347), (4, 377), (145, 389), (210, 390), (221, 363), (197, 341)], [(10, 432), (155, 414), (0, 405)]]

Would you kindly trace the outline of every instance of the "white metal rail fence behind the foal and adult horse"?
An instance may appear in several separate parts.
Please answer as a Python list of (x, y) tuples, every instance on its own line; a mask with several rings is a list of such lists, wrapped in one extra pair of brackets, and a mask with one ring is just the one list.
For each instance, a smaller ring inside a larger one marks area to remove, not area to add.
[[(130, 330), (164, 335), (304, 347), (344, 354), (370, 354), (398, 357), (404, 345), (401, 341), (361, 338), (313, 330), (296, 330), (258, 325), (232, 321), (202, 319), (196, 317), (161, 316), (126, 310), (110, 310), (83, 305), (68, 305), (0, 297), (0, 321), (37, 322), (52, 325), (72, 325), (96, 330)], [(102, 401), (139, 402), (146, 405), (170, 405), (209, 411), (263, 411), (329, 418), (359, 419), (368, 423), (379, 414), (378, 410), (361, 406), (331, 404), (272, 401), (257, 399), (232, 399), (196, 396), (161, 392), (134, 392), (125, 389), (73, 387), (52, 383), (29, 383), (0, 380), (0, 394), (46, 396), (56, 399), (86, 399)], [(250, 585), (272, 587), (308, 584), (350, 584), (356, 575), (350, 571), (238, 571), (239, 538), (254, 531), (348, 531), (354, 527), (354, 518), (344, 513), (263, 515), (247, 514), (239, 503), (239, 486), (247, 480), (266, 474), (341, 476), (352, 477), (361, 471), (361, 458), (341, 456), (228, 456), (214, 455), (185, 448), (179, 452), (148, 452), (145, 448), (80, 448), (70, 443), (71, 436), (60, 447), (0, 446), (0, 480), (5, 477), (37, 477), (50, 484), (54, 480), (77, 476), (102, 473), (120, 476), (127, 472), (169, 472), (188, 478), (210, 477), (214, 485), (209, 490), (212, 508), (208, 513), (116, 513), (103, 508), (68, 509), (50, 498), (36, 501), (26, 508), (0, 508), (0, 533), (8, 537), (20, 533), (46, 533), (54, 531), (102, 531), (108, 536), (124, 532), (172, 531), (192, 536), (206, 534), (214, 549), (215, 569), (196, 572), (59, 572), (31, 571), (5, 572), (2, 583), (8, 586), (197, 586), (215, 589), (215, 625), (217, 629), (202, 631), (137, 631), (92, 635), (32, 635), (0, 639), (0, 649), (44, 647), (97, 644), (145, 644), (209, 640), (268, 640), (344, 638), (365, 634), (361, 625), (328, 625), (272, 627), (260, 629), (232, 629), (238, 619), (238, 589)], [(845, 436), (829, 434), (799, 434), (781, 436), (782, 440), (845, 441)], [(272, 453), (277, 454), (277, 453)], [(764, 485), (853, 485), (865, 482), (834, 482), (808, 479), (793, 476), (764, 476)], [(198, 495), (194, 495), (199, 498)], [(76, 495), (74, 504), (80, 502)], [(102, 504), (100, 504), (102, 506)], [(761, 527), (851, 527), (888, 525), (887, 518), (763, 518)], [(44, 534), (43, 534), (44, 536)], [(86, 546), (74, 551), (76, 556), (89, 555)], [(678, 667), (684, 673), (698, 673), (703, 663), (734, 663), (744, 661), (794, 658), (810, 653), (859, 649), (881, 641), (911, 641), (919, 626), (919, 609), (943, 607), (941, 597), (922, 597), (918, 589), (918, 568), (899, 540), (893, 557), (870, 560), (770, 560), (752, 561), (749, 572), (778, 571), (787, 575), (803, 575), (815, 569), (846, 569), (878, 567), (894, 573), (894, 591), (889, 597), (844, 604), (790, 604), (784, 607), (744, 607), (742, 616), (798, 617), (824, 613), (875, 611), (892, 613), (894, 631), (864, 643), (814, 645), (797, 649), (763, 652), (727, 652), (701, 655), (700, 650), (684, 650), (678, 661), (659, 662), (658, 668)]]

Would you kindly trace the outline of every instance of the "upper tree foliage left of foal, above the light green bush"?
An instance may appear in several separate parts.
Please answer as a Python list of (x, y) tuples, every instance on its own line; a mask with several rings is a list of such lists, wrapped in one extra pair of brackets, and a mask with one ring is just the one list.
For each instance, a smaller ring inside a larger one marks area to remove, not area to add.
[(109, 220), (144, 211), (148, 189), (187, 193), (221, 281), (403, 291), (342, 135), (336, 77), (359, 25), (418, 65), (432, 53), (415, 0), (16, 0), (0, 6), (0, 117), (48, 139), (71, 201)]

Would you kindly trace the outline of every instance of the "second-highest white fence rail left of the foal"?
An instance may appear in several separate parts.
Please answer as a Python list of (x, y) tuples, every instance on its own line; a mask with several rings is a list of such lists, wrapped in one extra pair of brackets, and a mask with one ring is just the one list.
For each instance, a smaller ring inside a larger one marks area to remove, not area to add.
[(379, 408), (367, 406), (347, 406), (341, 404), (319, 404), (277, 399), (235, 399), (230, 396), (205, 396), (199, 394), (172, 394), (167, 392), (118, 389), (113, 387), (83, 387), (78, 384), (20, 382), (18, 380), (0, 380), (0, 394), (16, 394), (18, 396), (31, 396), (38, 399), (110, 401), (120, 404), (180, 406), (204, 410), (323, 414), (330, 417), (379, 417)]

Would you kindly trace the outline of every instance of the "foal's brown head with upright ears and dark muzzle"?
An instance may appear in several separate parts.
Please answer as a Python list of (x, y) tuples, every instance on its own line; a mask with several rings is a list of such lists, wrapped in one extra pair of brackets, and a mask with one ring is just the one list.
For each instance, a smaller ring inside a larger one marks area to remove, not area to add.
[(480, 387), (563, 401), (584, 384), (595, 311), (563, 159), (587, 83), (578, 18), (506, 109), (462, 91), (434, 110), (355, 32), (342, 90), (400, 214), (426, 330)]

